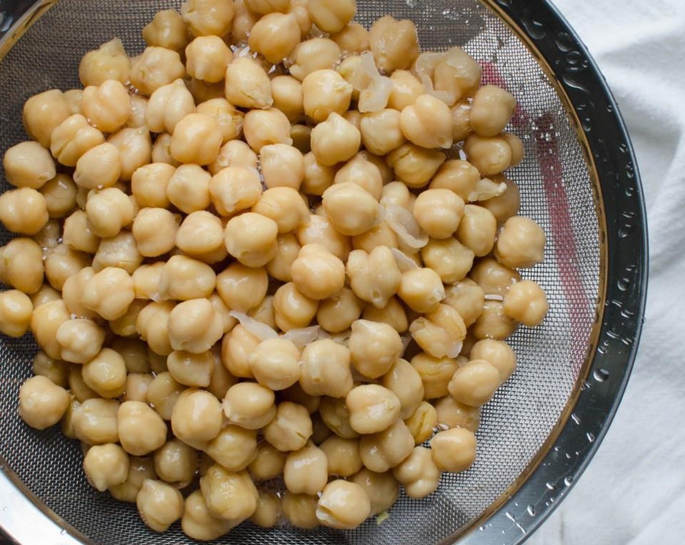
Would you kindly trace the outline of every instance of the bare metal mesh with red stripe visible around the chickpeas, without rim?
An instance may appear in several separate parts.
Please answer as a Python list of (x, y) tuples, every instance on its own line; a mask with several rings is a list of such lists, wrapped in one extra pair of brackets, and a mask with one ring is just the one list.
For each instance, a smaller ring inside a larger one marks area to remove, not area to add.
[[(25, 139), (21, 107), (34, 93), (79, 86), (79, 58), (114, 36), (129, 54), (142, 51), (140, 29), (174, 0), (61, 0), (0, 62), (0, 149)], [(410, 18), (423, 49), (461, 45), (484, 62), (485, 80), (505, 85), (521, 104), (510, 130), (523, 138), (526, 158), (510, 172), (523, 195), (521, 213), (545, 228), (545, 263), (524, 276), (547, 291), (551, 311), (535, 330), (512, 338), (519, 367), (483, 409), (478, 458), (463, 474), (445, 474), (425, 500), (402, 496), (381, 525), (356, 531), (263, 531), (243, 524), (220, 543), (371, 544), (435, 543), (473, 520), (519, 477), (558, 420), (584, 363), (599, 293), (598, 223), (582, 148), (555, 90), (530, 52), (477, 0), (358, 0), (357, 19), (390, 13)], [(3, 181), (3, 190), (7, 189)], [(2, 242), (9, 235), (2, 233)], [(99, 494), (84, 478), (76, 441), (58, 429), (36, 432), (16, 415), (17, 391), (31, 374), (30, 339), (0, 339), (0, 456), (55, 513), (101, 545), (188, 543), (173, 526), (148, 531), (135, 505)]]

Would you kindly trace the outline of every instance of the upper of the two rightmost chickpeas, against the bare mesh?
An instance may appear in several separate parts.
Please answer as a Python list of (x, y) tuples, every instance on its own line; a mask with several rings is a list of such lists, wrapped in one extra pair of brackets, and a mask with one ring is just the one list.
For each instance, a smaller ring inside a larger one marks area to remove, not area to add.
[(536, 221), (514, 216), (504, 223), (499, 232), (495, 257), (502, 265), (512, 269), (532, 267), (545, 258), (546, 241), (545, 232)]

